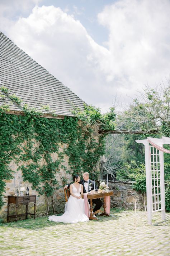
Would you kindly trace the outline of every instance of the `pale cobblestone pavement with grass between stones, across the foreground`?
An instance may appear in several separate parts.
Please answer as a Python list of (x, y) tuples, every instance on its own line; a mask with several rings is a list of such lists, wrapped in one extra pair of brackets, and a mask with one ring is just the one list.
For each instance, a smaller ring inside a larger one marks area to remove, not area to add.
[(0, 256), (22, 255), (170, 255), (170, 214), (111, 212), (88, 223), (63, 224), (47, 217), (0, 226)]

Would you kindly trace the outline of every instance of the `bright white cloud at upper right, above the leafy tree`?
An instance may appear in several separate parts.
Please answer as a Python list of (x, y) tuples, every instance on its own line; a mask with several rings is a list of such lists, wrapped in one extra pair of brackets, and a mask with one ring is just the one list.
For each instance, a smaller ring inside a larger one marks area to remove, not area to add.
[(122, 0), (98, 14), (109, 30), (105, 75), (119, 90), (154, 86), (169, 74), (170, 1)]

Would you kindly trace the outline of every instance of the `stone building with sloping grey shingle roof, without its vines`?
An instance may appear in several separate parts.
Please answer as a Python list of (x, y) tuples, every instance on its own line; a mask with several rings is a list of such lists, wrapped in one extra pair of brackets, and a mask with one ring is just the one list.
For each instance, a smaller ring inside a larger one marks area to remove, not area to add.
[[(12, 102), (3, 91), (0, 91), (0, 107), (5, 104), (9, 105), (8, 114), (24, 115), (23, 105), (28, 104), (29, 107), (41, 110), (42, 117), (59, 118), (72, 117), (73, 105), (84, 108), (85, 102), (75, 95), (68, 87), (58, 81), (45, 68), (39, 65), (35, 60), (29, 57), (23, 50), (15, 45), (4, 33), (0, 32), (0, 88), (5, 87), (10, 90), (10, 94), (16, 95), (22, 100), (22, 104)], [(3, 96), (2, 96), (3, 95)], [(5, 97), (5, 101), (4, 101)], [(4, 103), (5, 102), (5, 103)], [(42, 106), (49, 106), (48, 108)], [(61, 145), (60, 151), (64, 145)], [(52, 156), (54, 160), (57, 154)], [(64, 159), (64, 164), (69, 168), (68, 159)], [(15, 174), (15, 187), (20, 185), (27, 187), (29, 185), (30, 194), (38, 193), (32, 189), (28, 181), (24, 182), (21, 171), (18, 171), (17, 164), (11, 161), (9, 164), (11, 170)], [(61, 183), (62, 175), (66, 180), (70, 180), (70, 174), (64, 170), (60, 170), (57, 179)], [(7, 198), (14, 193), (14, 180), (6, 180), (6, 189), (4, 193), (4, 206), (0, 210), (0, 218), (6, 219), (7, 216)], [(37, 215), (46, 214), (46, 198), (44, 196), (37, 197)], [(61, 212), (65, 204), (63, 189), (59, 189), (55, 193), (56, 212)], [(23, 206), (24, 207), (24, 206)], [(19, 212), (23, 211), (20, 207)], [(32, 207), (31, 205), (29, 207)], [(31, 209), (30, 209), (31, 210)]]

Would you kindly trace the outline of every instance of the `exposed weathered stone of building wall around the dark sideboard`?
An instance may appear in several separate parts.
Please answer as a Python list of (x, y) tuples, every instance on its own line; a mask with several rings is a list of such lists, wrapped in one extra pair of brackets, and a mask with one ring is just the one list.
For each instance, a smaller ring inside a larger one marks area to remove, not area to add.
[[(62, 146), (64, 147), (64, 145)], [(62, 151), (62, 147), (60, 148), (60, 151)], [(57, 154), (53, 154), (53, 160), (57, 160)], [(43, 160), (42, 160), (43, 161)], [(42, 163), (43, 164), (43, 163)], [(70, 169), (70, 166), (68, 164), (68, 157), (65, 158), (64, 162), (62, 163), (67, 167), (67, 170)], [(15, 174), (15, 193), (16, 190), (19, 188), (19, 179), (20, 179), (20, 186), (27, 188), (27, 184), (29, 186), (29, 194), (30, 195), (36, 195), (37, 201), (36, 201), (36, 216), (43, 216), (47, 213), (47, 200), (45, 196), (39, 196), (36, 190), (32, 189), (32, 184), (23, 181), (22, 178), (22, 172), (17, 170), (18, 166), (14, 161), (11, 161), (9, 167), (11, 170), (14, 171)], [(60, 186), (62, 188), (58, 189), (54, 193), (54, 201), (55, 201), (55, 211), (57, 214), (63, 213), (64, 207), (65, 207), (65, 196), (63, 192), (63, 184), (62, 184), (62, 177), (64, 177), (68, 182), (72, 182), (72, 176), (70, 174), (67, 174), (66, 171), (63, 169), (60, 169), (60, 173), (56, 174), (57, 181), (59, 182)], [(14, 194), (14, 179), (13, 180), (6, 180), (6, 190), (4, 193), (4, 206), (0, 210), (0, 219), (3, 219), (4, 221), (7, 220), (7, 204), (8, 204), (8, 196)], [(18, 205), (18, 214), (25, 213), (26, 206), (23, 204)], [(29, 203), (28, 205), (28, 212), (33, 213), (34, 212), (34, 203)], [(15, 214), (15, 205), (10, 204), (10, 215)], [(51, 198), (49, 198), (49, 214), (53, 214), (52, 210), (52, 201)], [(28, 215), (29, 217), (30, 215)], [(19, 219), (19, 218), (18, 218)], [(14, 220), (11, 218), (11, 220)]]

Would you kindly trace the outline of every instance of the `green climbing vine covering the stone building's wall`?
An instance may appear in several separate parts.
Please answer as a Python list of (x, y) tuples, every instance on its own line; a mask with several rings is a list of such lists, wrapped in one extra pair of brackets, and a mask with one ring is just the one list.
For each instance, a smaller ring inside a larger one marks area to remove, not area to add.
[[(0, 88), (3, 93), (9, 90)], [(9, 95), (8, 95), (9, 96)], [(15, 95), (9, 97), (15, 103), (22, 101)], [(5, 104), (4, 104), (5, 105)], [(27, 104), (23, 105), (24, 116), (8, 114), (7, 107), (0, 108), (0, 207), (3, 205), (5, 180), (13, 178), (9, 163), (13, 160), (22, 171), (23, 180), (32, 184), (40, 195), (52, 198), (60, 187), (56, 174), (61, 169), (66, 173), (80, 175), (84, 171), (96, 172), (96, 165), (104, 153), (105, 135), (99, 135), (101, 127), (112, 126), (114, 109), (102, 115), (99, 109), (85, 106), (84, 111), (75, 110), (75, 117), (43, 118), (42, 113)], [(49, 106), (44, 106), (48, 109)], [(63, 150), (61, 150), (61, 147)], [(55, 157), (54, 157), (55, 156)], [(57, 157), (56, 157), (57, 156)], [(69, 168), (64, 159), (69, 159)], [(62, 177), (63, 183), (66, 182)], [(48, 209), (47, 209), (48, 212)]]

